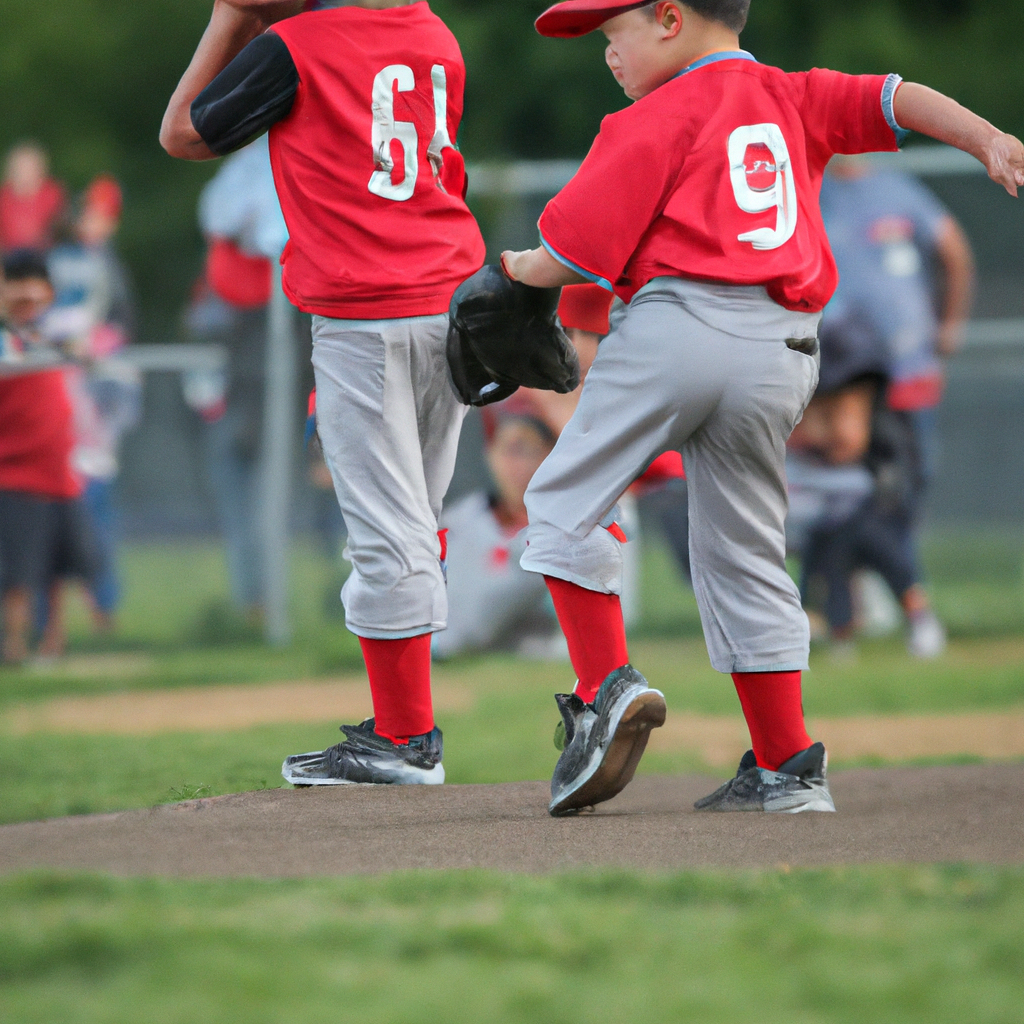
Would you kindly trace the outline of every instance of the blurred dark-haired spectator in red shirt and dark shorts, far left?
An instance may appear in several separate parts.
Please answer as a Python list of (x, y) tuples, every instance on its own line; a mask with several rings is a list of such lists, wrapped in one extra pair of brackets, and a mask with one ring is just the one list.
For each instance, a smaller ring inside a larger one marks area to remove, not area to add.
[[(31, 351), (44, 344), (42, 323), (53, 299), (43, 258), (29, 250), (3, 260), (0, 309), (16, 344)], [(0, 604), (3, 660), (29, 653), (35, 597), (48, 580), (88, 579), (92, 553), (77, 501), (71, 399), (60, 370), (0, 377)], [(40, 653), (63, 650), (58, 589), (49, 595), (47, 630)]]

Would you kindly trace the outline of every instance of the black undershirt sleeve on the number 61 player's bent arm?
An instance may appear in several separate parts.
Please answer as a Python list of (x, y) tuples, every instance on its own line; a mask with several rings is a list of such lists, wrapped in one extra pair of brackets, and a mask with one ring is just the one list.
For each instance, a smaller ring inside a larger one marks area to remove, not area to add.
[(194, 100), (193, 127), (218, 157), (287, 118), (299, 73), (275, 32), (257, 36)]

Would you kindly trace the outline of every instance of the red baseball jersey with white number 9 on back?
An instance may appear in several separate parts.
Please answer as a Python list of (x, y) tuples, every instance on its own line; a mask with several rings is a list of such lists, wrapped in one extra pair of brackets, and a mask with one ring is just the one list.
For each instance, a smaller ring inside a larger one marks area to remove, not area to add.
[(762, 285), (817, 312), (839, 281), (818, 196), (837, 153), (896, 150), (897, 76), (705, 57), (605, 118), (548, 204), (549, 251), (625, 301), (658, 276)]

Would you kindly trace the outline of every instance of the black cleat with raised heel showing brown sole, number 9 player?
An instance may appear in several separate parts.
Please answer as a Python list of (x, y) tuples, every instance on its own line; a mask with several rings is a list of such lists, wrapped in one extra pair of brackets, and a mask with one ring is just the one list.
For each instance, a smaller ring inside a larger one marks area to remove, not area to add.
[(601, 684), (593, 703), (574, 693), (555, 696), (562, 713), (565, 749), (551, 777), (554, 817), (575, 814), (622, 793), (643, 757), (650, 730), (665, 724), (665, 695), (652, 690), (632, 665)]

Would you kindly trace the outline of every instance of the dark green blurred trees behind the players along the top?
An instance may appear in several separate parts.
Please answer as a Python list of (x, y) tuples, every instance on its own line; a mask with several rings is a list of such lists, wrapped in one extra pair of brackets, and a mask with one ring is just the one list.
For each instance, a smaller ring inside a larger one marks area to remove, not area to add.
[[(582, 157), (624, 98), (603, 37), (546, 40), (544, 0), (435, 0), (469, 70), (467, 159)], [(0, 0), (0, 147), (38, 139), (74, 189), (106, 171), (125, 185), (121, 250), (142, 305), (143, 340), (168, 340), (199, 270), (196, 199), (210, 164), (170, 160), (160, 118), (209, 0)], [(1019, 0), (754, 0), (743, 45), (797, 71), (897, 71), (1024, 133)]]

